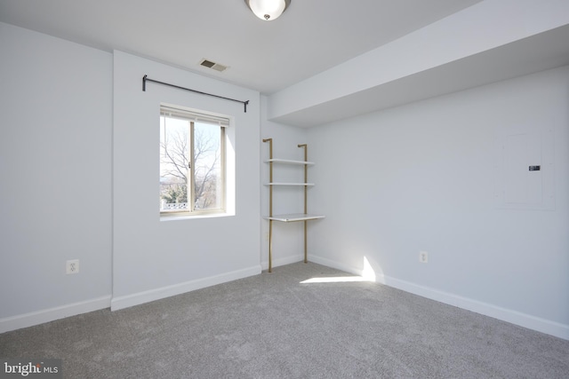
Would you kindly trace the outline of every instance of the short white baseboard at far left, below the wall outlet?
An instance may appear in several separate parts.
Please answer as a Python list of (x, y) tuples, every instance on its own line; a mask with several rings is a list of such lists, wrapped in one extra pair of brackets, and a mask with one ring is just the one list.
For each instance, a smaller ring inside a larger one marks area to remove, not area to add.
[(111, 296), (102, 296), (79, 303), (61, 305), (55, 308), (45, 309), (37, 312), (29, 312), (18, 316), (0, 319), (0, 333), (9, 332), (20, 328), (33, 327), (54, 320), (65, 319), (66, 317), (76, 316), (77, 314), (99, 311), (110, 306)]

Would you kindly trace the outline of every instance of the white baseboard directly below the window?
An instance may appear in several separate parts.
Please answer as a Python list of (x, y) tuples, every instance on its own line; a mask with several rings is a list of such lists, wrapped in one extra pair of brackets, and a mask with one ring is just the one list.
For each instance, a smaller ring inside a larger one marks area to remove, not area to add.
[(139, 292), (127, 296), (113, 296), (110, 302), (111, 311), (128, 308), (134, 305), (144, 304), (165, 297), (180, 295), (189, 291), (200, 288), (215, 286), (216, 284), (225, 283), (231, 280), (243, 279), (248, 276), (260, 273), (260, 265), (255, 265), (243, 270), (226, 272), (220, 275), (210, 276), (198, 280), (190, 280), (180, 284), (174, 284), (163, 288), (150, 289), (148, 291)]

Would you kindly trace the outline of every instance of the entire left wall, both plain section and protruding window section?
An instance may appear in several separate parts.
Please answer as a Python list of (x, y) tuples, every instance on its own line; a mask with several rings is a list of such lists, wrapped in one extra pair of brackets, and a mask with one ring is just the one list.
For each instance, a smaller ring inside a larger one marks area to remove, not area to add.
[[(258, 92), (4, 23), (0, 51), (0, 332), (260, 272)], [(234, 114), (232, 216), (160, 220), (160, 102)]]

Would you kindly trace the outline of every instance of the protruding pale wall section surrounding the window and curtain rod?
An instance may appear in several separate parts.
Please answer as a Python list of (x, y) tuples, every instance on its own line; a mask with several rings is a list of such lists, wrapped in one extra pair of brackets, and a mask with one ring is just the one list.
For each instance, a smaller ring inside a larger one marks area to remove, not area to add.
[[(121, 51), (114, 53), (112, 309), (260, 272), (260, 95)], [(241, 104), (147, 83), (142, 76)], [(161, 221), (161, 102), (235, 117), (236, 214)], [(253, 170), (252, 170), (253, 168)]]

